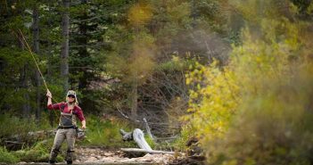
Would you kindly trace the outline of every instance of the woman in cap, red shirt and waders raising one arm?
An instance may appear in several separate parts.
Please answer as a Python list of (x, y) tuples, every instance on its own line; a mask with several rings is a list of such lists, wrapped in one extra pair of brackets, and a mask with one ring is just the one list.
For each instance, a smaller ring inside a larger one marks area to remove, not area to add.
[(83, 111), (78, 106), (78, 100), (75, 91), (69, 90), (66, 95), (66, 103), (52, 104), (52, 94), (47, 90), (46, 96), (48, 97), (47, 107), (49, 110), (60, 110), (60, 122), (56, 135), (54, 137), (54, 146), (50, 153), (49, 163), (54, 164), (56, 156), (62, 146), (62, 142), (66, 139), (68, 144), (67, 154), (65, 161), (67, 164), (72, 164), (75, 137), (77, 134), (76, 118), (81, 121), (83, 129), (86, 128), (86, 120)]

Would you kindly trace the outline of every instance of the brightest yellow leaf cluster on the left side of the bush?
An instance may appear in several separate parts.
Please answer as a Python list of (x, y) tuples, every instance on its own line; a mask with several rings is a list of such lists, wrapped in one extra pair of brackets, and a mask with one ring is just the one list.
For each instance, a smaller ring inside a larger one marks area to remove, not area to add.
[(193, 115), (187, 116), (185, 120), (191, 120), (203, 141), (223, 136), (231, 114), (234, 114), (240, 102), (234, 72), (227, 68), (219, 70), (217, 62), (209, 67), (198, 63), (196, 69), (186, 76), (187, 84), (193, 84), (195, 89), (190, 91), (187, 110), (193, 112)]

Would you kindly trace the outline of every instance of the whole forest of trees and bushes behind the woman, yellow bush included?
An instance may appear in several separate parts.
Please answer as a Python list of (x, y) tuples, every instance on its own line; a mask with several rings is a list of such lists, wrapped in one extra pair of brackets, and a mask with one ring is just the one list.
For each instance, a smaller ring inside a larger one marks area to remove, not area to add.
[(57, 126), (25, 37), (54, 102), (78, 92), (82, 144), (120, 147), (119, 128), (145, 118), (153, 135), (178, 135), (177, 151), (198, 138), (208, 164), (313, 163), (310, 0), (0, 6), (1, 144), (27, 141), (20, 153), (2, 147), (0, 161), (44, 160), (43, 143), (26, 136)]

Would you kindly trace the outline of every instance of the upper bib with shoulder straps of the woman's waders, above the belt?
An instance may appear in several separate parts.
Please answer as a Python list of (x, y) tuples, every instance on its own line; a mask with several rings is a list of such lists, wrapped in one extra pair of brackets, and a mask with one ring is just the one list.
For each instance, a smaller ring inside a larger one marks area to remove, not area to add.
[[(61, 106), (61, 116), (60, 116), (60, 121), (59, 121), (59, 128), (76, 128), (77, 125), (77, 120), (76, 120), (76, 115), (75, 113), (73, 114), (73, 110), (70, 111), (70, 113), (65, 113), (64, 107), (66, 105)], [(75, 107), (75, 105), (74, 105)]]

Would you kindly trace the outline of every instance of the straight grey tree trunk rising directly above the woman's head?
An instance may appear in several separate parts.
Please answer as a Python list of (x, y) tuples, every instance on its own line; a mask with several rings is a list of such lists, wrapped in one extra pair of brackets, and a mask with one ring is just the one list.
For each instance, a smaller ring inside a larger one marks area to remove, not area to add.
[(61, 52), (61, 77), (63, 88), (69, 90), (69, 32), (70, 32), (70, 0), (62, 0), (62, 52)]

